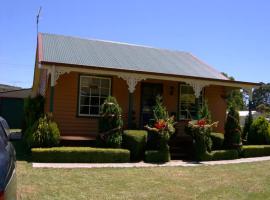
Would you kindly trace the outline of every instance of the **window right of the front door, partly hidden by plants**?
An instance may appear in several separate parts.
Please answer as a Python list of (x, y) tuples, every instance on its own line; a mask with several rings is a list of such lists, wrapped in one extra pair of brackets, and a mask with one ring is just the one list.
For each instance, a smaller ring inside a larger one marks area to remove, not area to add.
[[(198, 108), (194, 90), (190, 85), (181, 84), (179, 92), (179, 119), (196, 119)], [(199, 98), (199, 108), (202, 106), (203, 91)]]

